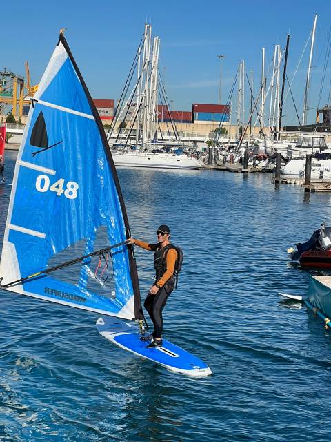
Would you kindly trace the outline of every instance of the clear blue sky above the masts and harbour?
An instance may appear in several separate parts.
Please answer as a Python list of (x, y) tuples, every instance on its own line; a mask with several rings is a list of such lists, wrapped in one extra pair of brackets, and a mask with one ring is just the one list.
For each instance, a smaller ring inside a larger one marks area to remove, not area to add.
[[(221, 102), (227, 102), (241, 60), (249, 77), (253, 72), (257, 96), (262, 48), (269, 84), (274, 45), (285, 48), (290, 33), (288, 78), (293, 80), (292, 95), (301, 117), (310, 41), (305, 52), (303, 49), (315, 13), (314, 67), (308, 95), (308, 122), (312, 123), (317, 106), (328, 104), (331, 95), (330, 63), (326, 64), (330, 0), (5, 1), (1, 3), (0, 70), (6, 67), (24, 75), (24, 62), (28, 61), (32, 83), (37, 84), (57, 44), (59, 30), (67, 28), (66, 39), (92, 97), (119, 99), (144, 23), (148, 22), (161, 39), (159, 69), (172, 108), (191, 111), (193, 103), (218, 103), (220, 83)], [(224, 58), (220, 61), (218, 55)], [(248, 84), (245, 90), (247, 118)], [(237, 101), (236, 93), (233, 102)], [(283, 113), (285, 124), (297, 124), (290, 93)]]

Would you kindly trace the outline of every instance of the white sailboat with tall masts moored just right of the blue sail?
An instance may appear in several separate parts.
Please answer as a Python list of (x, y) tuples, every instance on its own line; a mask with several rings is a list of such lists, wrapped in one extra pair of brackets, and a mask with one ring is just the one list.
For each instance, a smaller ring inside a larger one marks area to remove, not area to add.
[[(183, 153), (185, 147), (179, 139), (177, 129), (174, 128), (176, 140), (158, 140), (159, 108), (159, 37), (152, 41), (152, 26), (145, 23), (145, 31), (134, 65), (137, 67), (137, 82), (130, 93), (128, 100), (124, 96), (128, 91), (128, 80), (122, 97), (117, 106), (117, 112), (108, 133), (108, 141), (117, 122), (126, 122), (128, 110), (133, 108), (128, 121), (128, 128), (119, 129), (117, 140), (112, 144), (112, 157), (116, 166), (144, 167), (154, 169), (202, 169), (203, 163), (197, 158)], [(141, 60), (142, 56), (142, 60)], [(132, 78), (134, 69), (131, 68), (129, 77)], [(163, 86), (164, 88), (164, 86)], [(166, 97), (165, 90), (161, 89)], [(134, 99), (137, 102), (133, 102)], [(168, 109), (168, 106), (167, 106)], [(170, 113), (168, 111), (168, 115)], [(173, 122), (172, 126), (174, 126)], [(135, 134), (135, 136), (133, 135)]]

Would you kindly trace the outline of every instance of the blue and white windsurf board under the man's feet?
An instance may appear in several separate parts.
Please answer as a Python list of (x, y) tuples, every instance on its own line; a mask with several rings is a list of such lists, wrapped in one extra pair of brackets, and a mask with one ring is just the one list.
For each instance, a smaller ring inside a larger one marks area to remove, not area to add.
[(148, 342), (139, 339), (138, 327), (123, 320), (103, 316), (97, 320), (97, 329), (103, 337), (118, 347), (162, 365), (172, 372), (188, 376), (212, 374), (211, 369), (201, 359), (168, 340), (163, 339), (162, 347), (147, 348)]

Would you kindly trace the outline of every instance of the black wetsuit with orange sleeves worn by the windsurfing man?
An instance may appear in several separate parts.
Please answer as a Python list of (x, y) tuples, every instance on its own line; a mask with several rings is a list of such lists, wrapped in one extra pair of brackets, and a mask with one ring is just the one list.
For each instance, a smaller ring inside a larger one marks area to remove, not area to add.
[[(161, 259), (161, 268), (155, 275), (155, 285), (158, 285), (159, 291), (156, 295), (148, 294), (143, 306), (148, 311), (150, 319), (154, 325), (153, 338), (161, 338), (163, 330), (163, 317), (162, 311), (167, 302), (169, 295), (174, 289), (174, 266), (177, 260), (177, 251), (170, 248), (168, 245), (160, 249), (160, 244), (147, 244), (136, 240), (136, 244), (145, 250), (154, 251), (154, 263), (155, 260)], [(164, 251), (166, 252), (165, 260), (163, 259)]]

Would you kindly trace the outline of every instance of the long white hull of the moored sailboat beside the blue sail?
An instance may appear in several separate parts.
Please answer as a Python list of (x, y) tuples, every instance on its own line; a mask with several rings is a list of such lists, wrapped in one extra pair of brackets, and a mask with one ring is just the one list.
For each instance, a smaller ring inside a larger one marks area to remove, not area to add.
[(115, 166), (154, 167), (159, 169), (201, 169), (203, 164), (196, 158), (172, 153), (119, 153), (112, 151)]

